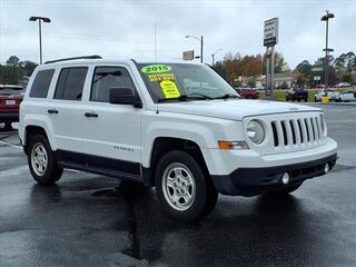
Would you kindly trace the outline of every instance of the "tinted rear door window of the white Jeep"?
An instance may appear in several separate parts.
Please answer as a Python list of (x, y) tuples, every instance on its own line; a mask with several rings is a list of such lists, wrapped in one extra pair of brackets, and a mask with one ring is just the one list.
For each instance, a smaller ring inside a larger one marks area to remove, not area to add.
[(88, 68), (65, 68), (60, 71), (55, 99), (81, 100)]

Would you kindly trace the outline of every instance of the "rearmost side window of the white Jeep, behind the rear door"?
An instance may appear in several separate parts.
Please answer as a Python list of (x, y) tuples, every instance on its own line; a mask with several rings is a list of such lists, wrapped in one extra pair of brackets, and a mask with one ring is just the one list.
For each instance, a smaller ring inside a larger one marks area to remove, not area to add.
[(40, 70), (37, 72), (31, 87), (30, 98), (47, 98), (53, 73), (53, 69)]

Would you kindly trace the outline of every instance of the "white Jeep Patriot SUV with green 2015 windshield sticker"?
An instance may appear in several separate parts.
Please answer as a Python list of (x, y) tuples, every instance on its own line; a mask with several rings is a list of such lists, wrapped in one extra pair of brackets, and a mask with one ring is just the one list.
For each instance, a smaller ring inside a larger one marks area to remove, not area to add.
[(39, 184), (63, 168), (141, 182), (188, 222), (218, 192), (288, 194), (335, 166), (320, 109), (243, 100), (200, 63), (98, 58), (48, 62), (29, 81), (19, 135)]

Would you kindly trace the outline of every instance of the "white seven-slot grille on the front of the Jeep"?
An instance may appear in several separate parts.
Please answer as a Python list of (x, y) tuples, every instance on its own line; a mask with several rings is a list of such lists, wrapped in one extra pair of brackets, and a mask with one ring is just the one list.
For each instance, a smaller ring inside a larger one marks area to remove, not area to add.
[(307, 118), (271, 120), (275, 147), (318, 144), (324, 137), (324, 121), (320, 115)]

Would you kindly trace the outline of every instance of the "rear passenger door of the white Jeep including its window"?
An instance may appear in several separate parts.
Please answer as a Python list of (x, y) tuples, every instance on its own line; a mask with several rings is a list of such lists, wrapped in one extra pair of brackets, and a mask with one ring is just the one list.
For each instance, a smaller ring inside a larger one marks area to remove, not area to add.
[(73, 152), (83, 152), (81, 96), (87, 82), (87, 67), (62, 68), (47, 110), (58, 154), (63, 160), (72, 159)]

